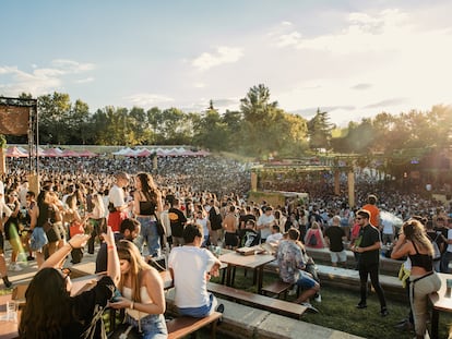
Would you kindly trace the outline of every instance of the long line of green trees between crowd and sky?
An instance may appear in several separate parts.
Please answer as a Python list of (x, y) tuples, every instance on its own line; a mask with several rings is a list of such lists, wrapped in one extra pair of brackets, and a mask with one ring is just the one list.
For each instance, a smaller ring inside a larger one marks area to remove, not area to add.
[[(22, 94), (20, 97), (31, 97)], [(330, 123), (329, 113), (317, 110), (306, 120), (286, 112), (271, 100), (263, 84), (240, 100), (239, 110), (221, 114), (212, 100), (201, 112), (178, 108), (144, 110), (107, 106), (95, 112), (86, 102), (52, 93), (38, 97), (39, 141), (50, 145), (192, 145), (260, 159), (300, 157), (319, 153), (391, 155), (401, 149), (449, 148), (452, 109), (397, 116), (381, 112), (346, 128)], [(26, 143), (26, 136), (7, 136), (8, 143)], [(413, 152), (412, 152), (413, 153)]]

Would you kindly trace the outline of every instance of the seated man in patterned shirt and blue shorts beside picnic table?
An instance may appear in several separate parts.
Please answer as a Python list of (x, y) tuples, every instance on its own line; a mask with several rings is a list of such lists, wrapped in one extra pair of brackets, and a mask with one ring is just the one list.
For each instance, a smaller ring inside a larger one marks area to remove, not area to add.
[(318, 311), (309, 303), (309, 298), (320, 291), (320, 284), (310, 274), (304, 270), (306, 263), (301, 249), (297, 244), (300, 232), (290, 228), (287, 234), (288, 239), (282, 240), (277, 247), (276, 259), (279, 267), (279, 277), (284, 282), (300, 287), (302, 292), (295, 302), (317, 313)]

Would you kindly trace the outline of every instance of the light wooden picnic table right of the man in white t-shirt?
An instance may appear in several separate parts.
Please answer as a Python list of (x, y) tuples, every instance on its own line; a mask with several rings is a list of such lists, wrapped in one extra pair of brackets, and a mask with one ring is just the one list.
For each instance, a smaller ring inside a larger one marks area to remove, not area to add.
[[(269, 264), (275, 259), (275, 256), (272, 254), (262, 253), (262, 249), (259, 247), (260, 253), (243, 255), (237, 252), (229, 252), (223, 254), (218, 257), (222, 263), (227, 264), (226, 268), (226, 286), (234, 284), (234, 277), (231, 275), (233, 269), (236, 267), (250, 268), (254, 270), (255, 281), (253, 283), (258, 287), (258, 293), (262, 292), (262, 281), (263, 281), (263, 267), (265, 264)], [(257, 252), (258, 249), (257, 249)]]

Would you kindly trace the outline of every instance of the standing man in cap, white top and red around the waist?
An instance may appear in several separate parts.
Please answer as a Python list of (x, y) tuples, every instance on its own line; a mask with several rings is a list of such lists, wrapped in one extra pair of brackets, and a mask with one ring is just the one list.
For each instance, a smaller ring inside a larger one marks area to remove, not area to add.
[(108, 226), (114, 232), (119, 232), (121, 221), (128, 217), (129, 204), (126, 203), (124, 190), (129, 184), (129, 174), (118, 172), (115, 175), (116, 182), (108, 193)]

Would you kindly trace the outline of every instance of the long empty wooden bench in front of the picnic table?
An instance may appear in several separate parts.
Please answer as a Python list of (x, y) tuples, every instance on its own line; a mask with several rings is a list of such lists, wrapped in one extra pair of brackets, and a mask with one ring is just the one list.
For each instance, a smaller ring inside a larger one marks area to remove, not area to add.
[(276, 314), (299, 319), (307, 307), (288, 301), (265, 296), (262, 294), (250, 293), (237, 290), (219, 283), (207, 282), (207, 290), (214, 294), (237, 303), (248, 304), (253, 307), (266, 310)]

